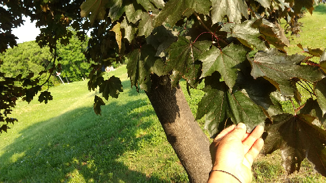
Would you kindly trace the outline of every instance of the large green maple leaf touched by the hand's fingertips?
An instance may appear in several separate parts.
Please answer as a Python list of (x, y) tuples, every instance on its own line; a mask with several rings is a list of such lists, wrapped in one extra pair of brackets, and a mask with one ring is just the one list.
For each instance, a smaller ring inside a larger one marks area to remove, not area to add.
[[(210, 77), (212, 76), (207, 79)], [(202, 89), (205, 95), (198, 103), (196, 114), (196, 119), (206, 114), (205, 129), (211, 137), (224, 129), (229, 117), (234, 124), (246, 124), (248, 132), (251, 132), (257, 125), (264, 126), (266, 115), (257, 104), (241, 91), (231, 93), (225, 82), (216, 82), (216, 80), (218, 78), (209, 85), (206, 85), (205, 80), (206, 86)]]

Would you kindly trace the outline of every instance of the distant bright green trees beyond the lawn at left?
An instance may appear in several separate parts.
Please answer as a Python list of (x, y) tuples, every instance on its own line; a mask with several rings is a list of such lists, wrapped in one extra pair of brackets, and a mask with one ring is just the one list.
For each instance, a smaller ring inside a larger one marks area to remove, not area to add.
[[(59, 55), (56, 61), (57, 68), (59, 68), (57, 72), (61, 72), (64, 80), (80, 81), (82, 77), (88, 77), (92, 63), (88, 63), (83, 54), (87, 49), (87, 42), (82, 42), (76, 36), (72, 36), (69, 44), (60, 44), (58, 41), (57, 49)], [(53, 53), (48, 47), (40, 48), (35, 41), (29, 41), (9, 48), (0, 54), (0, 58), (4, 62), (0, 67), (0, 72), (5, 73), (6, 77), (16, 77), (19, 74), (26, 77), (30, 73), (37, 76), (44, 69), (48, 70), (52, 67), (50, 63), (53, 60)], [(51, 80), (55, 80), (55, 75)]]

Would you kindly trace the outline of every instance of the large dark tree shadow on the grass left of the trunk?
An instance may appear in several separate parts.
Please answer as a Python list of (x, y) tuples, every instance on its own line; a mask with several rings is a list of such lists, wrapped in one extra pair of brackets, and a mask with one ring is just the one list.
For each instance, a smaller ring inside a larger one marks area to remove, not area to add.
[[(153, 110), (137, 110), (146, 105), (142, 99), (124, 105), (111, 102), (102, 106), (102, 116), (95, 115), (91, 107), (77, 108), (29, 126), (6, 147), (1, 159), (9, 163), (0, 167), (0, 181), (165, 182), (130, 170), (120, 159), (153, 138), (137, 134), (154, 123), (149, 117)], [(142, 117), (150, 120), (140, 122)]]

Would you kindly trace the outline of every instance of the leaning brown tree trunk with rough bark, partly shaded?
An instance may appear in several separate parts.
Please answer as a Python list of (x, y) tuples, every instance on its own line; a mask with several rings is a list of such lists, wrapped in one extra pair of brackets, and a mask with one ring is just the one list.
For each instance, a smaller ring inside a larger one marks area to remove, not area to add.
[(190, 182), (207, 182), (211, 170), (209, 140), (192, 114), (181, 87), (153, 74), (147, 96)]

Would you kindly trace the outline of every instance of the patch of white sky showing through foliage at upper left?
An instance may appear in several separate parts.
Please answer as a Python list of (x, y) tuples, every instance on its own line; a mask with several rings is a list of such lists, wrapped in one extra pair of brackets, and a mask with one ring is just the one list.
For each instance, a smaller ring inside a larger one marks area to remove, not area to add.
[(22, 19), (25, 20), (24, 25), (12, 29), (12, 34), (18, 38), (17, 43), (35, 40), (41, 33), (40, 28), (35, 27), (36, 21), (32, 23), (30, 17), (22, 17)]

